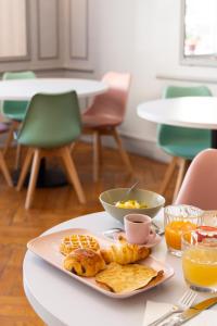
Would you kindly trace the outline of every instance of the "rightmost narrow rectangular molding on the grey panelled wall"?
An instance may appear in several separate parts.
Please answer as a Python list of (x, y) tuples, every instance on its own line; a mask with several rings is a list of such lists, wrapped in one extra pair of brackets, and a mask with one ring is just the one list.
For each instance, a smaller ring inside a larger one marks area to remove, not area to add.
[[(79, 0), (78, 0), (79, 1)], [(89, 58), (89, 0), (85, 0), (86, 1), (86, 53), (85, 55), (74, 55), (72, 52), (73, 49), (73, 34), (72, 34), (72, 22), (73, 22), (73, 17), (72, 17), (72, 5), (73, 5), (73, 1), (69, 0), (69, 11), (68, 11), (68, 21), (69, 21), (69, 58), (72, 60), (81, 60), (81, 61), (88, 61)]]

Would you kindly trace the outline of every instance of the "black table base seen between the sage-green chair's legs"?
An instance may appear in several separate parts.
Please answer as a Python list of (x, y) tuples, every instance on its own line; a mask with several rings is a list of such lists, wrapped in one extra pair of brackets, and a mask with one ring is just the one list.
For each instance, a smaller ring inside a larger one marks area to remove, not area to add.
[[(21, 172), (20, 170), (16, 170), (13, 174), (14, 185), (17, 184), (20, 172)], [(29, 181), (29, 174), (27, 175), (26, 180), (24, 183), (25, 187), (28, 187), (28, 181)], [(42, 159), (39, 167), (39, 173), (38, 173), (37, 188), (54, 188), (54, 187), (63, 187), (66, 185), (67, 185), (67, 180), (64, 173), (58, 167), (48, 168), (46, 166), (46, 159)]]

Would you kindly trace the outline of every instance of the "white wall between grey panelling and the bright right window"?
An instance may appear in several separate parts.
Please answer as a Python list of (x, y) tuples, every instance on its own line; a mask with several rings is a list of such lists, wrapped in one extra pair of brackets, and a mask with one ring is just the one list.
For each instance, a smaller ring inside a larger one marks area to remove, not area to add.
[[(98, 78), (110, 70), (132, 74), (127, 116), (120, 130), (142, 140), (144, 154), (149, 150), (158, 159), (165, 156), (155, 146), (156, 126), (137, 116), (137, 105), (159, 98), (170, 84), (190, 86), (205, 80), (217, 95), (217, 68), (180, 64), (180, 15), (181, 0), (89, 0), (89, 66)], [(69, 66), (71, 61), (66, 61)], [(159, 79), (157, 75), (180, 80)], [(210, 85), (209, 79), (214, 80)]]

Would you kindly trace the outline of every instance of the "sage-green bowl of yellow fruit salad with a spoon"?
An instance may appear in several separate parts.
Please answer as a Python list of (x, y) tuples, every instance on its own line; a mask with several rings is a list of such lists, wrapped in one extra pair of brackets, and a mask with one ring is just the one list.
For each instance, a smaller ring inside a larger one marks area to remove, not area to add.
[(138, 213), (154, 217), (165, 204), (165, 198), (154, 191), (143, 189), (115, 188), (100, 195), (104, 210), (124, 223), (124, 216)]

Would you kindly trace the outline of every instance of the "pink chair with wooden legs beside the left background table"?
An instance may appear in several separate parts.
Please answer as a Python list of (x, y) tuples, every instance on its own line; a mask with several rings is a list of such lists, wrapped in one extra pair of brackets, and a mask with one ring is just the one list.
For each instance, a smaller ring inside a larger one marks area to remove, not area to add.
[(99, 179), (99, 167), (102, 159), (101, 136), (112, 136), (127, 171), (132, 174), (127, 152), (125, 151), (117, 127), (124, 122), (127, 98), (130, 87), (130, 74), (108, 72), (102, 82), (108, 90), (94, 98), (90, 108), (82, 114), (84, 134), (93, 135), (93, 179)]

